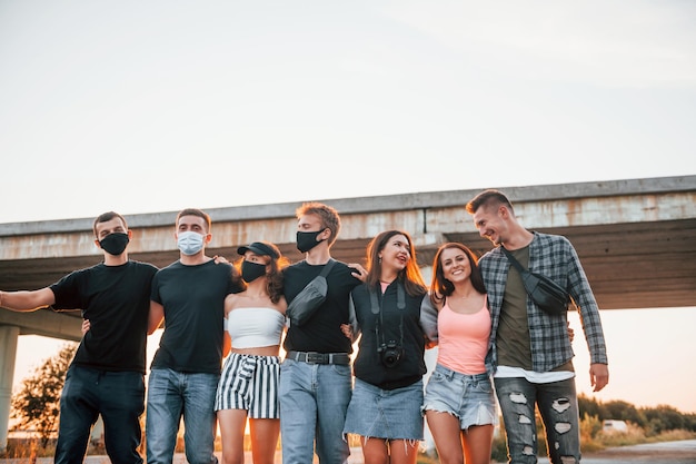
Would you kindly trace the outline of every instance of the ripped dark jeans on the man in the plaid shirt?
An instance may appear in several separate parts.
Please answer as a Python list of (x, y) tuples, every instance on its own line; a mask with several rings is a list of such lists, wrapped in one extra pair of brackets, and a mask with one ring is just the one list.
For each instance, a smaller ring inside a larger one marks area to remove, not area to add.
[(509, 463), (536, 463), (537, 436), (535, 405), (539, 408), (549, 460), (580, 461), (580, 430), (575, 378), (548, 384), (533, 384), (524, 377), (495, 378), (503, 412)]

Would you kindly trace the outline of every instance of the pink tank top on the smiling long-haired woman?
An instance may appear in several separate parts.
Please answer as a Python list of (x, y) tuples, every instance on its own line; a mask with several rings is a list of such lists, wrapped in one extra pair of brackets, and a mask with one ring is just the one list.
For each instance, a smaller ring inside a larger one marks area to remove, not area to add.
[(437, 362), (460, 374), (486, 372), (490, 313), (486, 303), (474, 314), (455, 313), (447, 302), (437, 316)]

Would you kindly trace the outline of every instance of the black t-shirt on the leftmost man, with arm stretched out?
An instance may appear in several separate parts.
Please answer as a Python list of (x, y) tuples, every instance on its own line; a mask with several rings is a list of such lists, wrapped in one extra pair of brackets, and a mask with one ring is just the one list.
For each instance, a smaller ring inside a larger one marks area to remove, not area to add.
[(145, 374), (150, 285), (157, 267), (139, 261), (76, 270), (50, 288), (54, 309), (81, 309), (89, 319), (72, 364)]

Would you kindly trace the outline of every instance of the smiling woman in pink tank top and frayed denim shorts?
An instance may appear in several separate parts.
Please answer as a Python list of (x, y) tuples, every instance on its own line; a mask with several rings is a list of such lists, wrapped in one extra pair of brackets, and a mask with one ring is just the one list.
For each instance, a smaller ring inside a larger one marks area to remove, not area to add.
[(490, 314), (476, 256), (458, 243), (437, 250), (430, 303), (437, 309), (437, 365), (424, 411), (441, 463), (488, 464), (498, 423), (490, 381)]

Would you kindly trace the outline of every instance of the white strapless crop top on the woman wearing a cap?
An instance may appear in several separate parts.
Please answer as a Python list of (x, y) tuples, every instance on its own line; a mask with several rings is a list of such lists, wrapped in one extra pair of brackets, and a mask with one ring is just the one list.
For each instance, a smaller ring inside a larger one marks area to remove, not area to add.
[(285, 316), (274, 308), (236, 308), (227, 315), (225, 327), (232, 348), (280, 345)]

